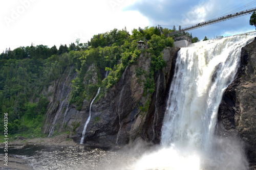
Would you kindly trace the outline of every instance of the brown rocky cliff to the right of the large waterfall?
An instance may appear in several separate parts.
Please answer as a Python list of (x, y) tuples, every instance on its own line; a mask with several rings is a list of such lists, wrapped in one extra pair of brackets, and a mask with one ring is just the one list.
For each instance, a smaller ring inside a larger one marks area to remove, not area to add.
[(251, 165), (256, 164), (256, 39), (242, 48), (237, 78), (219, 107), (220, 136), (238, 136)]

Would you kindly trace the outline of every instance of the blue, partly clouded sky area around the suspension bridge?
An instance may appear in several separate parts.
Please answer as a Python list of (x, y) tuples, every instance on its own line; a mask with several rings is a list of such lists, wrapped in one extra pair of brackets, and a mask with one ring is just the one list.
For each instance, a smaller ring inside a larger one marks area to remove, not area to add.
[[(232, 0), (140, 0), (124, 8), (124, 10), (139, 11), (143, 16), (148, 18), (150, 26), (175, 25), (176, 27), (182, 26), (183, 28), (187, 25), (233, 13), (234, 10), (244, 7), (249, 3), (248, 1), (234, 2)], [(252, 7), (253, 5), (247, 6), (244, 9)], [(241, 11), (244, 9), (241, 9)], [(253, 31), (254, 28), (249, 26), (248, 21), (249, 16), (247, 15), (188, 32), (191, 32), (193, 36), (199, 37), (199, 39), (203, 39), (205, 35), (209, 38), (214, 38), (216, 35), (230, 35), (232, 33)], [(168, 28), (172, 29), (172, 27)]]

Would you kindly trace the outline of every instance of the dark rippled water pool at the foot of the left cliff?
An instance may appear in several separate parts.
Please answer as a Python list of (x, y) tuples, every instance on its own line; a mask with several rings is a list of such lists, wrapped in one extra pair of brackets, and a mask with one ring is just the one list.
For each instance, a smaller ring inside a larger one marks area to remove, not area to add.
[[(1, 149), (0, 154), (3, 150)], [(9, 147), (9, 155), (30, 161), (34, 169), (132, 169), (131, 155), (109, 148), (24, 145)]]

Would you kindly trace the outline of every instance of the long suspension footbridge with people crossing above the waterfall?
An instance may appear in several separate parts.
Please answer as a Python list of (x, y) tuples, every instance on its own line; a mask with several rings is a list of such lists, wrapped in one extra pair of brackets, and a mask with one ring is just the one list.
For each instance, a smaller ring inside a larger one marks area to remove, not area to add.
[[(178, 34), (180, 32), (195, 30), (195, 29), (198, 29), (198, 28), (201, 28), (201, 27), (212, 25), (214, 23), (218, 23), (218, 22), (222, 22), (222, 21), (225, 21), (225, 20), (229, 20), (229, 19), (240, 17), (240, 16), (248, 15), (248, 14), (253, 13), (253, 11), (256, 11), (256, 8), (251, 8), (251, 9), (243, 10), (243, 11), (236, 12), (236, 13), (226, 14), (226, 15), (218, 17), (218, 18), (214, 18), (214, 19), (210, 19), (210, 20), (207, 20), (207, 21), (204, 21), (204, 22), (196, 23), (195, 25), (192, 25), (192, 26), (177, 30), (175, 32), (172, 32), (169, 35), (175, 35), (175, 34)], [(162, 26), (162, 25), (159, 25), (159, 26), (160, 27), (171, 27), (171, 26)]]

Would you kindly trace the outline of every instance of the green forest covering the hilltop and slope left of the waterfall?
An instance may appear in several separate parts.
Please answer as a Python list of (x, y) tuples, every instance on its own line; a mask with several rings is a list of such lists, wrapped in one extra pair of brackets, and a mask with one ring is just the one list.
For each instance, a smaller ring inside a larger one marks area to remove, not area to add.
[[(108, 91), (118, 82), (125, 67), (136, 63), (141, 53), (151, 54), (150, 74), (145, 75), (145, 93), (153, 93), (155, 82), (154, 73), (165, 66), (161, 52), (166, 46), (174, 46), (173, 37), (168, 33), (175, 31), (161, 27), (145, 27), (127, 32), (114, 29), (110, 32), (94, 35), (87, 43), (79, 39), (69, 46), (54, 45), (20, 46), (7, 49), (0, 55), (0, 127), (4, 135), (4, 113), (8, 113), (9, 135), (26, 137), (44, 136), (41, 128), (45, 123), (48, 99), (42, 91), (59, 79), (67, 67), (76, 72), (77, 77), (72, 81), (70, 103), (76, 109), (82, 108), (84, 99), (91, 99), (101, 87), (102, 93)], [(193, 42), (199, 41), (189, 33)], [(147, 42), (147, 48), (139, 50), (137, 42)], [(97, 83), (84, 83), (84, 75), (90, 65), (97, 68)], [(103, 79), (100, 72), (109, 71)], [(143, 74), (143, 70), (138, 70)], [(103, 80), (102, 80), (103, 79)], [(101, 94), (102, 96), (103, 94)]]

